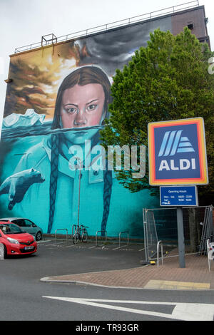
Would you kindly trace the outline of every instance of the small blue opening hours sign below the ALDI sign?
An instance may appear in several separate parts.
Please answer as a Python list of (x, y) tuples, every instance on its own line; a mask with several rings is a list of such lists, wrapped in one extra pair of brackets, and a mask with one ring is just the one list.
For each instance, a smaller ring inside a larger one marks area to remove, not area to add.
[(161, 186), (161, 206), (198, 206), (196, 186)]

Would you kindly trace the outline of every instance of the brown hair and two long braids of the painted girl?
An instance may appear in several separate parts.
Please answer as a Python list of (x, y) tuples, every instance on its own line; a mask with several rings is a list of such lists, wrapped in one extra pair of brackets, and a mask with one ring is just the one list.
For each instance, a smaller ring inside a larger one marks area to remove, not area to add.
[[(51, 128), (57, 129), (61, 127), (61, 102), (63, 92), (67, 88), (72, 88), (75, 85), (84, 86), (88, 83), (99, 83), (103, 87), (105, 94), (105, 102), (103, 106), (103, 113), (106, 113), (108, 118), (108, 103), (111, 102), (111, 83), (101, 68), (96, 66), (83, 66), (77, 70), (70, 73), (66, 78), (64, 78), (61, 86), (58, 89), (56, 97), (56, 105), (54, 110), (54, 120)], [(55, 202), (56, 202), (56, 190), (57, 190), (57, 180), (58, 180), (58, 155), (60, 150), (60, 134), (54, 133), (51, 135), (51, 174), (50, 174), (50, 186), (49, 186), (49, 197), (50, 197), (50, 207), (49, 207), (49, 225), (48, 233), (51, 232), (54, 223), (54, 212), (55, 212)], [(107, 164), (106, 164), (107, 167)], [(111, 189), (112, 189), (112, 171), (107, 169), (103, 171), (103, 219), (101, 222), (101, 234), (104, 234), (106, 230), (108, 213), (110, 209), (111, 201)]]

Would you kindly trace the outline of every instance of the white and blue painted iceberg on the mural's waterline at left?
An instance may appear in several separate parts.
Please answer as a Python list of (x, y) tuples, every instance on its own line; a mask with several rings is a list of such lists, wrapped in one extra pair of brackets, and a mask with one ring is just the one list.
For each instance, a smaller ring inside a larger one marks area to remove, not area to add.
[(12, 113), (3, 119), (2, 128), (29, 127), (30, 125), (42, 125), (46, 115), (37, 114), (33, 109), (26, 110), (24, 115)]

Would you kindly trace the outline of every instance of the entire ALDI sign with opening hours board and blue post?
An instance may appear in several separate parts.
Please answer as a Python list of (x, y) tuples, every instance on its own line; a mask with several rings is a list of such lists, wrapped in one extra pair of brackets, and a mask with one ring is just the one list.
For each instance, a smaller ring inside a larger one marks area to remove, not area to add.
[(148, 165), (149, 184), (161, 186), (161, 206), (177, 207), (179, 264), (185, 267), (182, 207), (198, 206), (195, 185), (208, 184), (203, 118), (148, 123)]

